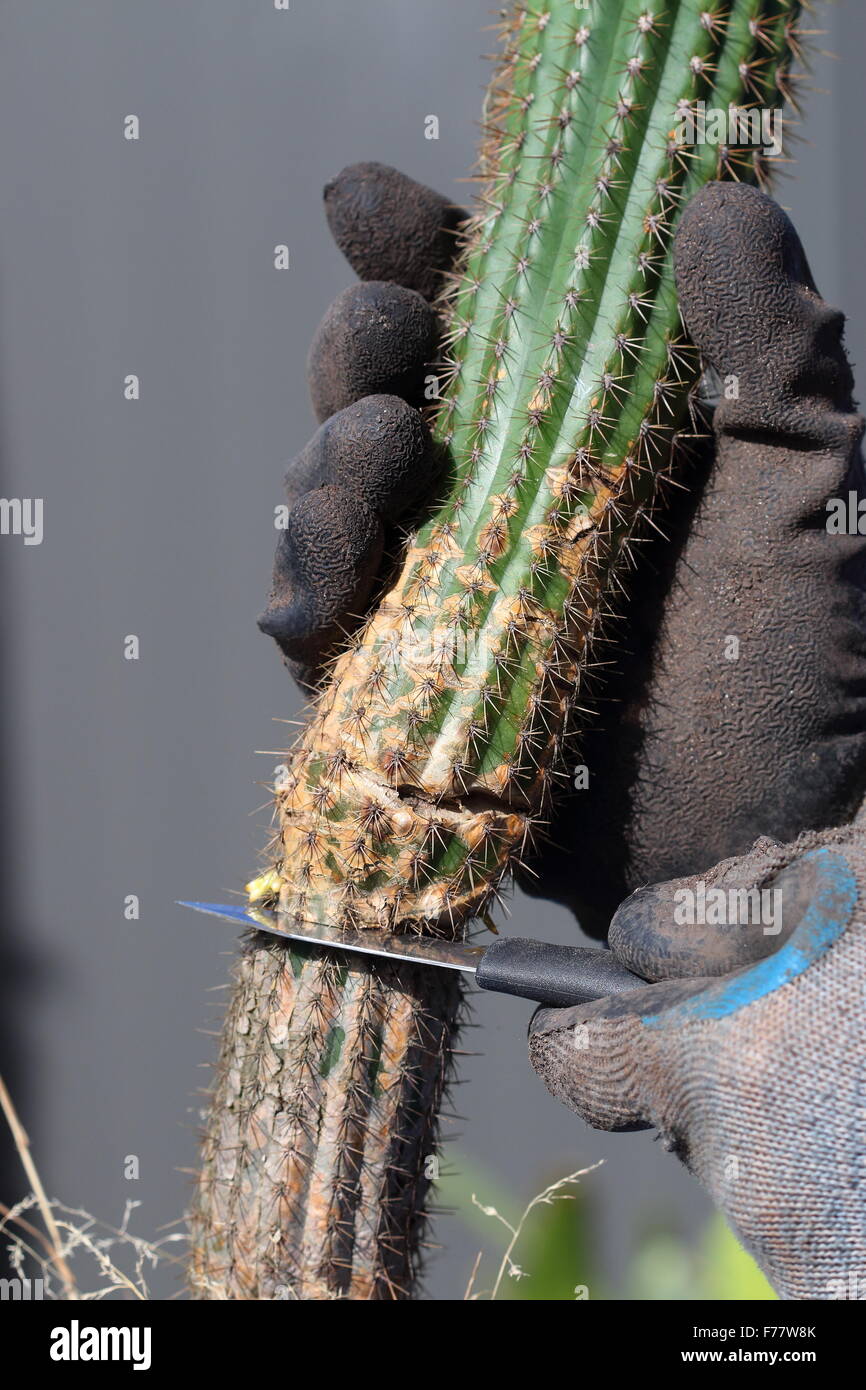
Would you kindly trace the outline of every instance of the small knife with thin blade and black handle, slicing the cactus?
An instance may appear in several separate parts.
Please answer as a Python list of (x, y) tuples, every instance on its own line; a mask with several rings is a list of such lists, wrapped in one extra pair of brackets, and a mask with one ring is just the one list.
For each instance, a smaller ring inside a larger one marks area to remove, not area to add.
[(464, 974), (474, 974), (481, 990), (513, 994), (559, 1008), (591, 1004), (609, 994), (626, 994), (646, 984), (646, 980), (619, 965), (610, 951), (601, 947), (559, 947), (527, 937), (496, 937), (488, 945), (473, 945), (466, 941), (442, 941), (438, 937), (396, 935), (374, 927), (350, 931), (320, 922), (297, 923), (263, 908), (239, 908), (224, 902), (179, 902), (178, 906), (325, 949), (461, 970)]

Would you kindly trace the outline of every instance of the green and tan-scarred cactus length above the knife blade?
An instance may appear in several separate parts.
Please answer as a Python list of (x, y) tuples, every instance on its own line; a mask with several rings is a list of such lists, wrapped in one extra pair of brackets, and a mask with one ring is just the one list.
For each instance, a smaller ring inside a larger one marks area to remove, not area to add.
[(678, 208), (710, 177), (763, 172), (755, 152), (685, 146), (678, 121), (702, 100), (778, 101), (795, 11), (517, 11), (445, 306), (435, 434), (455, 482), (293, 751), (286, 913), (457, 926), (520, 856), (610, 577), (687, 420)]

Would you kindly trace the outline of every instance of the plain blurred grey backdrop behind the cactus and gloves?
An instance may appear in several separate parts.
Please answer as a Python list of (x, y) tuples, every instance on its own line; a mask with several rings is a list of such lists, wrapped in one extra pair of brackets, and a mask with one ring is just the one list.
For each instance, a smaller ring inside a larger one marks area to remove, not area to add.
[[(823, 47), (862, 53), (862, 6), (823, 18)], [(463, 199), (489, 22), (489, 0), (0, 4), (0, 492), (44, 498), (42, 546), (0, 539), (4, 1070), (49, 1191), (108, 1220), (136, 1198), (143, 1234), (186, 1202), (234, 940), (174, 901), (250, 876), (277, 762), (254, 751), (297, 703), (254, 619), (284, 464), (313, 428), (307, 343), (352, 278), (321, 186), (378, 158)], [(831, 90), (780, 197), (856, 363), (858, 64), (819, 57), (815, 81)], [(513, 927), (574, 940), (520, 898)], [(708, 1204), (649, 1136), (594, 1134), (546, 1095), (527, 1012), (478, 999), (459, 1150), (521, 1198), (603, 1158), (587, 1190), (614, 1275), (642, 1222), (689, 1230)], [(14, 1166), (3, 1186), (19, 1195)], [(427, 1295), (461, 1297), (477, 1237), (456, 1216), (436, 1237)]]

